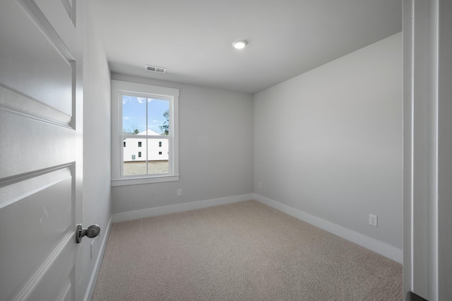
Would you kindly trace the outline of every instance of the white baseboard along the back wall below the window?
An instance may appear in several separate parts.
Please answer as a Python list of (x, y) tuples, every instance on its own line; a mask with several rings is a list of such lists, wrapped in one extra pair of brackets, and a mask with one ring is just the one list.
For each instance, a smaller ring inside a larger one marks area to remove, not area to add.
[(113, 214), (113, 223), (124, 222), (126, 220), (136, 220), (138, 218), (150, 218), (151, 216), (161, 216), (162, 214), (189, 211), (193, 209), (206, 208), (210, 206), (224, 205), (226, 203), (237, 203), (239, 201), (249, 201), (253, 199), (253, 194), (242, 194), (240, 196), (227, 196), (225, 198), (210, 199), (205, 201), (194, 201), (191, 203), (180, 203), (177, 205), (147, 208), (136, 211), (127, 211)]

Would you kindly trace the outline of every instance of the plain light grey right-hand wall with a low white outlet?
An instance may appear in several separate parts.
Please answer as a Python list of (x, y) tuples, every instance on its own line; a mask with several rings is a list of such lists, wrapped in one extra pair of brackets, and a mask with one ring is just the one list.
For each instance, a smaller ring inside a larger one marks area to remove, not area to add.
[(254, 192), (402, 249), (402, 105), (402, 33), (257, 93)]

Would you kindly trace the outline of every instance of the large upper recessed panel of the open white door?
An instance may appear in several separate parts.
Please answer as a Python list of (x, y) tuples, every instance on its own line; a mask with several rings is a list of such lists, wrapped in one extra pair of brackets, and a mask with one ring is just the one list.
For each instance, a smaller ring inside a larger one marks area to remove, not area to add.
[(5, 58), (0, 61), (0, 83), (71, 115), (73, 54), (33, 1), (5, 2), (0, 13)]

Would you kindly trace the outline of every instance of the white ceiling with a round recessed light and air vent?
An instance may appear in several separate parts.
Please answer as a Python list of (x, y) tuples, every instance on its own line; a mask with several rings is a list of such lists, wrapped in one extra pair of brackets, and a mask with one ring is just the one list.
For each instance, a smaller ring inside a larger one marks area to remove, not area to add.
[(113, 72), (251, 94), (402, 30), (401, 0), (87, 2)]

